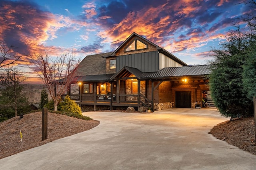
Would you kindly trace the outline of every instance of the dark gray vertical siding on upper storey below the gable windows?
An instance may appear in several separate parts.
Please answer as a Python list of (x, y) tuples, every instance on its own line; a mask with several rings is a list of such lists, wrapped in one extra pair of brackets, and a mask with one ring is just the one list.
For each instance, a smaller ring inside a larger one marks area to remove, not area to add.
[(144, 73), (159, 71), (158, 51), (117, 56), (116, 70), (124, 66), (134, 67)]

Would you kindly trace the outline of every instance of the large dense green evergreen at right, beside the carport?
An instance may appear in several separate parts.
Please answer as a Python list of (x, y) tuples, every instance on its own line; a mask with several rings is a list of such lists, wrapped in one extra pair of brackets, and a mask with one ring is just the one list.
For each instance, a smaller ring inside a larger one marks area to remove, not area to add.
[[(256, 6), (254, 0), (245, 4)], [(253, 115), (252, 96), (256, 95), (256, 17), (243, 19), (245, 28), (230, 31), (221, 49), (213, 49), (209, 86), (220, 113), (226, 117)], [(246, 30), (247, 29), (247, 30)]]

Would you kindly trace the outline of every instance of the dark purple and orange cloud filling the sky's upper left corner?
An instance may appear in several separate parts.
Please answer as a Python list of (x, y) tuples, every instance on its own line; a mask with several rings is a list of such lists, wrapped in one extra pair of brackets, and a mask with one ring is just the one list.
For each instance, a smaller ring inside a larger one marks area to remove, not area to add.
[(0, 1), (0, 35), (5, 44), (28, 53), (36, 47), (36, 40), (46, 34), (44, 27), (50, 20), (48, 12), (31, 1)]

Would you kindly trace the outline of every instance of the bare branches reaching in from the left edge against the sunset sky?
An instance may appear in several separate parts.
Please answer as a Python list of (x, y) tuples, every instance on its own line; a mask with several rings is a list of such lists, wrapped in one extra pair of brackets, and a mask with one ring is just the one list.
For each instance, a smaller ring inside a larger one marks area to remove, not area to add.
[(7, 47), (0, 42), (0, 68), (7, 65), (12, 65), (16, 63), (16, 61), (18, 61), (20, 57), (24, 56), (15, 52), (14, 49), (16, 49), (16, 47), (12, 45)]

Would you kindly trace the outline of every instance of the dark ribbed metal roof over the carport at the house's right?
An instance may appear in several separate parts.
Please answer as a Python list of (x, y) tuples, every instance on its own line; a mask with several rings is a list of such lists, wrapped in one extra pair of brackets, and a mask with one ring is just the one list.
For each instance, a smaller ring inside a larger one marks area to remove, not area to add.
[(210, 74), (210, 65), (194, 65), (184, 67), (169, 67), (158, 72), (145, 73), (144, 78), (164, 78), (190, 75), (208, 75)]

